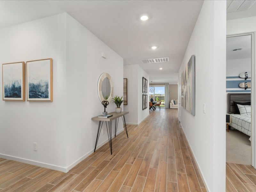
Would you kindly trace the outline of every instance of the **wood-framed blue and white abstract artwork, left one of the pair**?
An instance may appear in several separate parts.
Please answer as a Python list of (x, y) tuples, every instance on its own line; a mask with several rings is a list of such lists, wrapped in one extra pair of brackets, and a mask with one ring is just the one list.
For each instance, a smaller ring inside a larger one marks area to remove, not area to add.
[(25, 101), (25, 62), (2, 65), (3, 100)]

